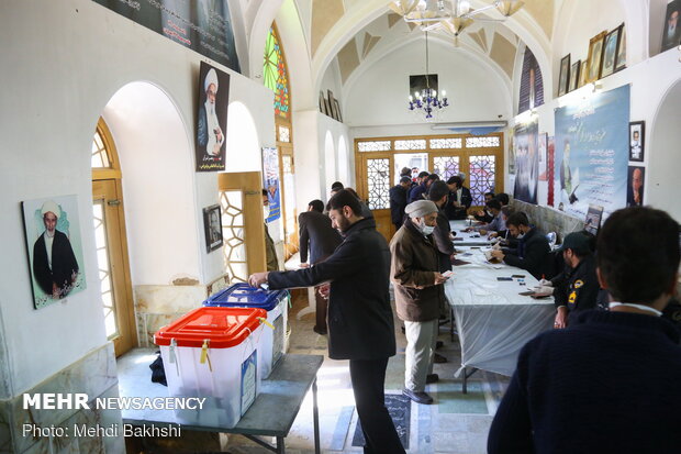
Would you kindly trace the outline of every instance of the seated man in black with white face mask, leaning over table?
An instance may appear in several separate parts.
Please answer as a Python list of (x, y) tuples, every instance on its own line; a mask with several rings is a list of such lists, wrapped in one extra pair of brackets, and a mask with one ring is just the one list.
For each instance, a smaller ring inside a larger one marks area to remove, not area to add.
[(536, 279), (549, 275), (549, 252), (546, 235), (529, 225), (527, 214), (513, 213), (506, 221), (509, 233), (518, 239), (516, 250), (494, 250), (492, 256), (503, 261), (506, 265), (526, 269)]

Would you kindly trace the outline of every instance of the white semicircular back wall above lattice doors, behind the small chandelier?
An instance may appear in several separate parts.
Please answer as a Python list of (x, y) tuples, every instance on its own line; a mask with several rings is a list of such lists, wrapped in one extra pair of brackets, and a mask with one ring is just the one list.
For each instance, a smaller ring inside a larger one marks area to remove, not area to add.
[[(432, 41), (431, 74), (438, 75), (451, 104), (439, 120), (482, 121), (511, 117), (509, 81), (491, 67), (450, 45)], [(424, 42), (415, 41), (368, 68), (345, 93), (344, 120), (350, 128), (421, 124), (425, 117), (408, 110), (409, 76), (425, 74)]]

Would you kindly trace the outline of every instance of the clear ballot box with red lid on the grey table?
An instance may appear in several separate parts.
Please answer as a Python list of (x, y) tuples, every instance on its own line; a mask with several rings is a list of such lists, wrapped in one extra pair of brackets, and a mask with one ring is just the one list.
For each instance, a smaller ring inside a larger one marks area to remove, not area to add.
[(233, 428), (260, 391), (264, 309), (203, 307), (154, 335), (171, 397), (205, 398), (176, 410), (178, 422)]

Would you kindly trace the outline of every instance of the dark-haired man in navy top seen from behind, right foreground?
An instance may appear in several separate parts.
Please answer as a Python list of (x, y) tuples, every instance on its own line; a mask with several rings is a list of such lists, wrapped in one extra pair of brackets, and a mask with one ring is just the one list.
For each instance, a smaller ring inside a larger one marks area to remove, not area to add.
[(610, 311), (581, 312), (523, 347), (489, 454), (680, 452), (679, 332), (660, 317), (680, 255), (679, 224), (666, 212), (633, 207), (607, 218), (596, 265)]

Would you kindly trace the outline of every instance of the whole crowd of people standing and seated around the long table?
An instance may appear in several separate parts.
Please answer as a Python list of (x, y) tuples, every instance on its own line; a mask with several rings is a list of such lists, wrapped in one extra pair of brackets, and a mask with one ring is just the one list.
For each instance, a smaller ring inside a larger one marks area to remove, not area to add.
[(404, 168), (390, 190), (397, 232), (388, 243), (368, 206), (335, 182), (326, 207), (313, 200), (300, 214), (301, 269), (249, 278), (270, 289), (317, 288), (314, 331), (328, 335), (331, 358), (349, 359), (365, 452), (404, 452), (384, 406), (395, 354), (391, 286), (406, 337), (403, 395), (434, 402), (426, 385), (439, 380), (433, 363), (449, 313), (444, 284), (457, 254), (449, 221), (466, 218), (479, 222), (470, 230), (498, 239), (491, 259), (527, 270), (539, 281), (535, 296), (556, 304), (555, 330), (521, 352), (489, 452), (678, 452), (680, 337), (659, 315), (676, 294), (679, 224), (659, 210), (626, 208), (598, 240), (578, 231), (551, 251), (507, 195), (488, 192), (473, 211), (464, 184), (465, 175), (444, 181)]

